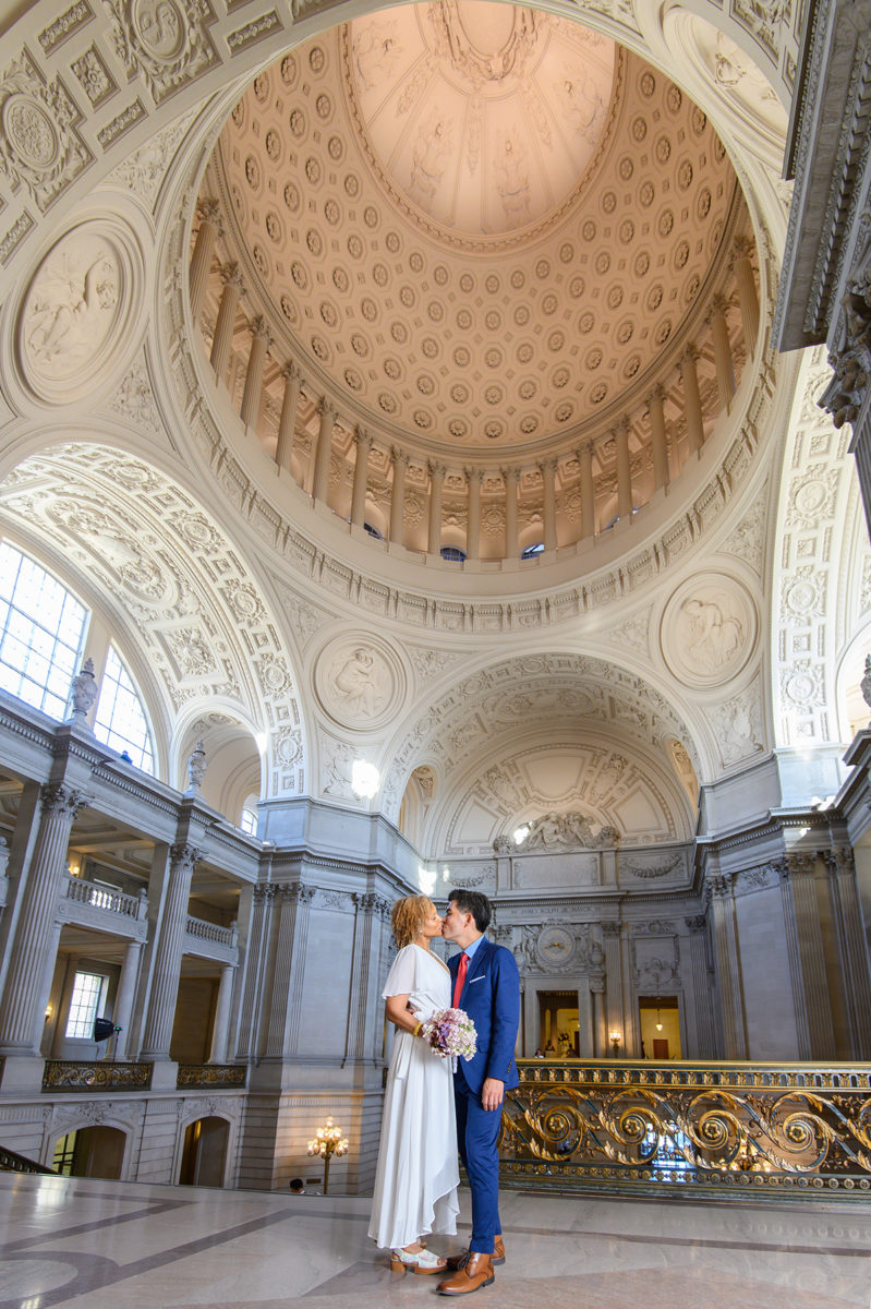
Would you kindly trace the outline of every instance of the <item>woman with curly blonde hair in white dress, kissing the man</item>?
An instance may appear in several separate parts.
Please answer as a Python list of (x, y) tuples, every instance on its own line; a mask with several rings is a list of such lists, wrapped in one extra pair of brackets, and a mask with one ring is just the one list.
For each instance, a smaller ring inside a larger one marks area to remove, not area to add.
[(445, 1259), (424, 1249), (429, 1232), (454, 1236), (456, 1122), (450, 1059), (439, 1059), (417, 1038), (420, 1025), (451, 1004), (450, 974), (430, 952), (442, 920), (426, 895), (396, 901), (391, 927), (399, 953), (382, 992), (396, 1026), (369, 1236), (391, 1250), (395, 1271), (443, 1272)]

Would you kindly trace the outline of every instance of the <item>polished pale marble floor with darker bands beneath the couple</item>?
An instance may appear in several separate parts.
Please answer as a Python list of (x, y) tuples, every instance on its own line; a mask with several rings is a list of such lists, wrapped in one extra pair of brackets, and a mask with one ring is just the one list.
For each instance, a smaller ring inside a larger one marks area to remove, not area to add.
[[(463, 1195), (468, 1216), (468, 1196)], [(382, 1309), (430, 1301), (392, 1275), (365, 1199), (0, 1173), (0, 1309)], [(504, 1192), (492, 1309), (871, 1305), (871, 1204)], [(434, 1249), (462, 1245), (456, 1241)]]

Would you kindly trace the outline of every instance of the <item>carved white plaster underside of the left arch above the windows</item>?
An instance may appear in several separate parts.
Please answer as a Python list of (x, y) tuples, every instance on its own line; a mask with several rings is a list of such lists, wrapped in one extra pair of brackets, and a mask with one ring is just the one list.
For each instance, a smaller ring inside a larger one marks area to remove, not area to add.
[[(65, 560), (129, 623), (140, 685), (174, 711), (218, 702), (268, 734), (269, 795), (303, 787), (294, 677), (263, 589), (224, 533), (157, 469), (92, 444), (33, 457), (4, 482), (3, 518)], [(126, 615), (126, 617), (124, 617)]]

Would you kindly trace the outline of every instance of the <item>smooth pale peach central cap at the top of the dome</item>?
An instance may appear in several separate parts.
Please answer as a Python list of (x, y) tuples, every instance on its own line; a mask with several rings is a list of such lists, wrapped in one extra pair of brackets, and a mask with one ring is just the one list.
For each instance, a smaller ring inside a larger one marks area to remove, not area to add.
[(343, 33), (371, 166), (413, 220), (468, 238), (535, 228), (578, 191), (613, 86), (615, 45), (535, 9), (447, 0)]

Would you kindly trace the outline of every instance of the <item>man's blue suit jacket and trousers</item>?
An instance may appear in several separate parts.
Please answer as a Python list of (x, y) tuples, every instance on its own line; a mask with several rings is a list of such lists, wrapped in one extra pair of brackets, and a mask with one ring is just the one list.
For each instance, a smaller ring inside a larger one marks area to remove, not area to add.
[[(456, 979), (459, 954), (447, 963), (451, 983)], [(453, 994), (453, 990), (451, 990)], [(510, 1090), (518, 1084), (514, 1046), (521, 1021), (521, 977), (517, 962), (504, 945), (487, 937), (470, 958), (459, 996), (477, 1031), (477, 1052), (468, 1062), (458, 1059), (454, 1073), (456, 1138), (460, 1158), (472, 1191), (472, 1240), (470, 1250), (493, 1253), (500, 1224), (500, 1156), (496, 1147), (502, 1123), (500, 1110), (481, 1105), (487, 1077), (497, 1077)]]

